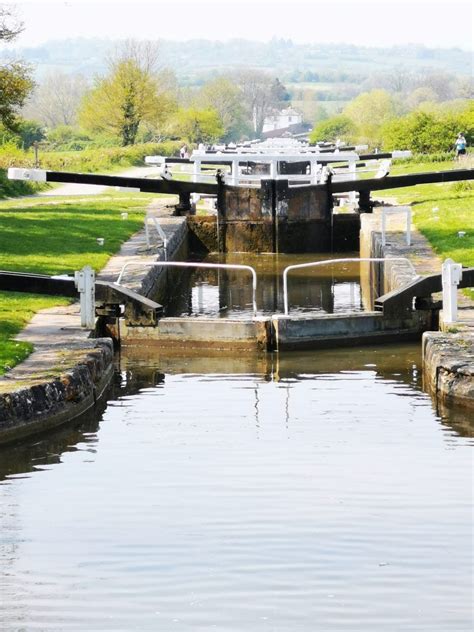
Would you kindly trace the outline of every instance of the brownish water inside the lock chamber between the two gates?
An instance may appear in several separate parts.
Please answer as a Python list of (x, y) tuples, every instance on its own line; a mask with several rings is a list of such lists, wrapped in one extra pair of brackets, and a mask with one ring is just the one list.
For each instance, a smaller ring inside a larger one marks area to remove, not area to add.
[[(358, 257), (357, 253), (347, 255)], [(275, 255), (210, 254), (206, 263), (248, 265), (257, 273), (256, 301), (263, 316), (283, 311), (283, 270), (290, 265), (333, 259), (332, 254)], [(252, 276), (247, 271), (196, 269), (183, 275), (181, 283), (169, 287), (167, 316), (251, 318)], [(360, 264), (344, 262), (303, 268), (288, 275), (291, 312), (337, 314), (360, 312), (363, 300)]]

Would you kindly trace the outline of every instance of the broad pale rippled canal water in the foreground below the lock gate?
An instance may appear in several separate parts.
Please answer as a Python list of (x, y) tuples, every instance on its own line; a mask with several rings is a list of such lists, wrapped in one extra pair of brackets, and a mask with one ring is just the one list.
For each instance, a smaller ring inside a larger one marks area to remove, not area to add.
[(472, 415), (419, 345), (122, 357), (0, 451), (0, 629), (472, 630)]

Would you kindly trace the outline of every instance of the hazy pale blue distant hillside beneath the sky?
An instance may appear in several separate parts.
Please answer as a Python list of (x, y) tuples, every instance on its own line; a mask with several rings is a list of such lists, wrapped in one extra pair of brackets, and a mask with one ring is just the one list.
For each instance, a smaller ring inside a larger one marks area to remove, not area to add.
[[(105, 70), (106, 58), (119, 44), (106, 39), (75, 38), (50, 41), (35, 48), (1, 48), (0, 59), (31, 62), (38, 77), (51, 72), (80, 73), (86, 77)], [(162, 41), (162, 63), (174, 70), (182, 85), (199, 85), (210, 75), (239, 66), (260, 68), (282, 81), (302, 82), (316, 74), (318, 81), (354, 83), (373, 73), (404, 67), (413, 71), (472, 73), (472, 54), (458, 49), (431, 49), (422, 45), (371, 48), (343, 44), (294, 44), (231, 40)], [(309, 73), (309, 74), (308, 74)], [(311, 80), (311, 79), (310, 79)]]

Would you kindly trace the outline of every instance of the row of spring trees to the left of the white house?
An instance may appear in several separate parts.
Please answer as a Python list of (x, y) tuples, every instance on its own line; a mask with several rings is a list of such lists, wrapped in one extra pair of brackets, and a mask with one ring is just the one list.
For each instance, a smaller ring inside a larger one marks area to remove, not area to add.
[[(0, 40), (10, 41), (21, 25), (10, 9), (1, 11)], [(0, 142), (20, 138), (28, 146), (46, 138), (78, 149), (91, 141), (128, 146), (258, 137), (265, 118), (289, 99), (277, 78), (256, 70), (216, 76), (199, 90), (183, 90), (174, 73), (161, 67), (157, 43), (132, 40), (110, 55), (107, 72), (92, 83), (56, 74), (35, 85), (32, 68), (17, 62), (1, 67), (0, 85)]]

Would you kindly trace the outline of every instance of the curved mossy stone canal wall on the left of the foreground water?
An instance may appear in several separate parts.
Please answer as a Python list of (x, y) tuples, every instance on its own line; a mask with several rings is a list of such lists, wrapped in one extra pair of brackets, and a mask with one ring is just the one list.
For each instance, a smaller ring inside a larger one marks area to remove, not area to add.
[(56, 378), (0, 394), (0, 446), (73, 421), (104, 395), (114, 373), (112, 341), (94, 339), (68, 353), (73, 364)]

